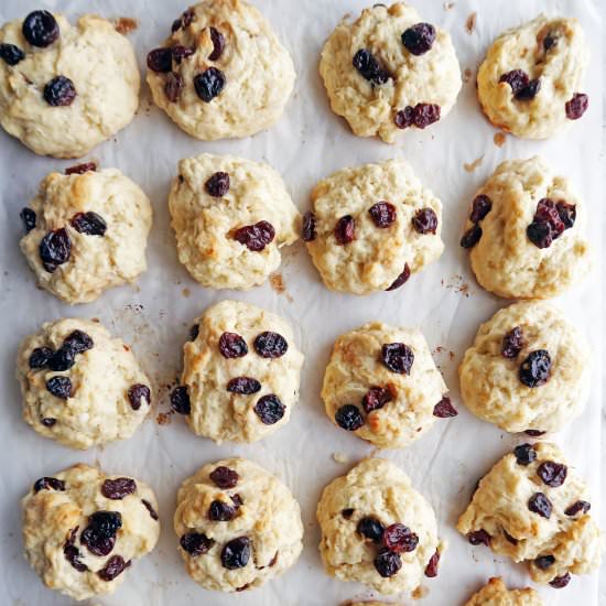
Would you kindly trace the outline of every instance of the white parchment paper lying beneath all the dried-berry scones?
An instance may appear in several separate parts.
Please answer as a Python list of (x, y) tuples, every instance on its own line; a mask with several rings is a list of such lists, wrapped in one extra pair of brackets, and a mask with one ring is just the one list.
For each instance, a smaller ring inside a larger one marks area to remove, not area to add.
[[(44, 588), (23, 559), (19, 500), (35, 478), (79, 461), (98, 463), (111, 473), (140, 477), (155, 489), (161, 505), (162, 535), (156, 549), (129, 570), (126, 582), (113, 596), (95, 598), (90, 604), (325, 606), (376, 595), (361, 585), (340, 583), (324, 573), (315, 522), (322, 488), (360, 458), (376, 453), (365, 442), (334, 428), (318, 397), (333, 340), (340, 333), (375, 318), (421, 327), (459, 409), (458, 418), (437, 421), (434, 429), (410, 448), (381, 453), (397, 462), (430, 500), (441, 535), (448, 542), (440, 575), (423, 583), (428, 593), (421, 604), (463, 604), (490, 575), (502, 575), (508, 584), (516, 586), (530, 583), (524, 566), (497, 558), (485, 548), (472, 548), (454, 529), (477, 478), (521, 440), (478, 421), (459, 402), (456, 367), (462, 355), (479, 323), (505, 306), (506, 301), (497, 300), (475, 283), (467, 256), (458, 247), (458, 238), (475, 190), (495, 166), (506, 159), (535, 153), (544, 155), (573, 178), (588, 204), (589, 215), (602, 216), (603, 3), (600, 0), (411, 0), (426, 21), (451, 31), (462, 71), (469, 69), (472, 77), (464, 84), (458, 102), (446, 119), (425, 132), (407, 132), (394, 147), (354, 137), (345, 122), (329, 111), (317, 75), (318, 54), (326, 36), (345, 12), (358, 14), (370, 0), (256, 0), (255, 3), (270, 19), (292, 53), (297, 72), (294, 95), (277, 126), (242, 141), (196, 141), (151, 105), (149, 90), (143, 86), (134, 121), (88, 156), (101, 166), (123, 171), (141, 185), (153, 203), (149, 271), (138, 285), (115, 289), (97, 302), (77, 307), (62, 304), (36, 290), (18, 247), (22, 229), (18, 214), (33, 197), (37, 183), (47, 172), (61, 171), (75, 162), (37, 158), (0, 133), (2, 604), (53, 606), (67, 603), (65, 597)], [(454, 7), (448, 8), (451, 4)], [(20, 0), (2, 0), (0, 22), (24, 17), (34, 8), (61, 11), (71, 19), (85, 12), (136, 18), (139, 28), (130, 39), (143, 67), (147, 52), (161, 43), (186, 2), (47, 0), (34, 6)], [(586, 86), (591, 108), (574, 128), (551, 141), (524, 142), (507, 137), (499, 148), (493, 140), (495, 130), (485, 121), (475, 100), (475, 72), (497, 34), (541, 11), (581, 19), (592, 46)], [(475, 25), (469, 19), (473, 13), (476, 13)], [(412, 278), (403, 289), (364, 299), (327, 291), (301, 244), (283, 257), (279, 271), (284, 292), (274, 291), (270, 284), (248, 293), (205, 290), (176, 260), (166, 205), (170, 180), (178, 159), (202, 152), (234, 153), (269, 162), (284, 176), (302, 212), (309, 206), (314, 182), (322, 176), (343, 166), (403, 156), (443, 201), (446, 250), (439, 262)], [(464, 169), (465, 163), (473, 164), (477, 159), (481, 161), (476, 170)], [(591, 220), (589, 229), (596, 258), (600, 259), (600, 221)], [(559, 302), (592, 340), (596, 369), (600, 369), (603, 360), (599, 270), (597, 268), (592, 278)], [(160, 413), (169, 410), (167, 386), (178, 374), (181, 347), (191, 320), (209, 304), (226, 297), (248, 301), (286, 317), (306, 356), (301, 401), (290, 423), (273, 436), (252, 445), (217, 446), (195, 436), (178, 416), (172, 416), (169, 424), (161, 425), (156, 421)], [(19, 389), (13, 378), (18, 344), (23, 336), (37, 331), (43, 322), (62, 316), (100, 318), (113, 333), (132, 344), (155, 382), (159, 394), (153, 414), (131, 440), (80, 453), (39, 436), (22, 421)], [(584, 414), (556, 436), (576, 470), (591, 485), (595, 515), (599, 512), (600, 397), (599, 371), (596, 370)], [(337, 463), (334, 453), (340, 453), (347, 463)], [(198, 466), (231, 455), (249, 457), (282, 478), (301, 504), (305, 524), (305, 548), (297, 564), (263, 588), (236, 596), (206, 592), (190, 580), (177, 554), (172, 529), (180, 483)], [(564, 591), (540, 588), (540, 592), (545, 604), (552, 606), (592, 606), (598, 604), (597, 584), (598, 574), (575, 576)], [(404, 602), (410, 604), (411, 598)]]

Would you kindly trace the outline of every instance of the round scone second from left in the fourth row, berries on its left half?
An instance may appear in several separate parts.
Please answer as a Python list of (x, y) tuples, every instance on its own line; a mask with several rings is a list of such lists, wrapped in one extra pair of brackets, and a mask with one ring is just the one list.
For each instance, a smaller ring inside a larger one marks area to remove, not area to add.
[(209, 463), (187, 478), (174, 529), (187, 574), (219, 592), (260, 587), (290, 569), (303, 549), (299, 504), (246, 458)]

